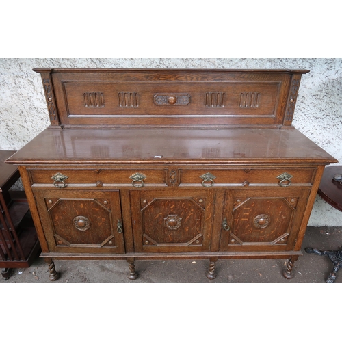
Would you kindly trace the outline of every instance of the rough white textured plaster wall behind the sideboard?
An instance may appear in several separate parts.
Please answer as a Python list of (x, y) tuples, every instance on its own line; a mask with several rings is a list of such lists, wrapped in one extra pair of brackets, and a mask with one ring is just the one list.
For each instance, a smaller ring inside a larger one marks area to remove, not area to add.
[[(51, 67), (308, 69), (310, 73), (302, 76), (293, 126), (342, 163), (342, 59), (2, 58), (0, 150), (18, 150), (49, 126), (40, 74), (32, 68)], [(342, 212), (317, 195), (309, 226), (342, 226)]]

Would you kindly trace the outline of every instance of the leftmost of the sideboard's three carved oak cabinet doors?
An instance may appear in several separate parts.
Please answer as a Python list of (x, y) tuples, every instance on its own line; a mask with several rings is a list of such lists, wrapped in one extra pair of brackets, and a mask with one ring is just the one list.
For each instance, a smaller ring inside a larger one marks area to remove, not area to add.
[(124, 253), (118, 191), (34, 190), (50, 252)]

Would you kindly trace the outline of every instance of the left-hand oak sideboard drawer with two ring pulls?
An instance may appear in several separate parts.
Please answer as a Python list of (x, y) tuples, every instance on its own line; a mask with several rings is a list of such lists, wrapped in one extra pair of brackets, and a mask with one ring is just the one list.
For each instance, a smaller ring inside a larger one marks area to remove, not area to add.
[[(88, 185), (127, 185), (142, 187), (144, 185), (166, 185), (167, 169), (28, 169), (31, 184), (51, 185), (55, 182), (53, 176), (62, 174), (66, 179), (56, 181), (57, 187), (64, 187), (64, 183), (69, 186)], [(131, 178), (132, 177), (132, 178)], [(56, 177), (57, 178), (57, 177)], [(63, 183), (64, 182), (64, 183)]]

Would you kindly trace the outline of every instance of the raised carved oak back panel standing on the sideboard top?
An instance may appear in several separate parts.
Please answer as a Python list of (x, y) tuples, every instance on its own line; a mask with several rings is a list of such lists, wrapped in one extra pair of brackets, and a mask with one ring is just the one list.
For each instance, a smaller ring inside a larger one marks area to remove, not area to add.
[(291, 126), (308, 70), (34, 69), (52, 125)]

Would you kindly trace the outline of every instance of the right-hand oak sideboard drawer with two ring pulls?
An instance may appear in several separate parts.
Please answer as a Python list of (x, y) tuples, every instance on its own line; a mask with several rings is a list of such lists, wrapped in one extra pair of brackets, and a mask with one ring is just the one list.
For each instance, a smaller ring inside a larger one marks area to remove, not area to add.
[[(289, 186), (296, 184), (312, 184), (315, 168), (231, 168), (231, 169), (181, 169), (180, 186), (202, 185), (257, 185), (280, 184)], [(278, 178), (280, 177), (280, 178)], [(284, 180), (282, 180), (284, 179)], [(289, 180), (287, 180), (289, 179)], [(291, 182), (290, 182), (291, 181)]]

